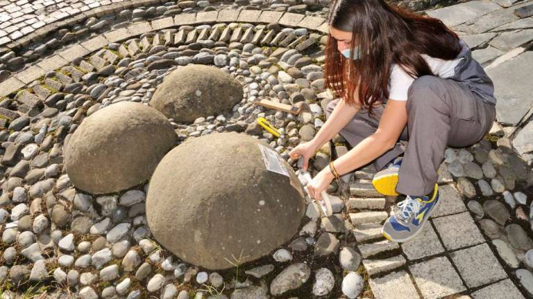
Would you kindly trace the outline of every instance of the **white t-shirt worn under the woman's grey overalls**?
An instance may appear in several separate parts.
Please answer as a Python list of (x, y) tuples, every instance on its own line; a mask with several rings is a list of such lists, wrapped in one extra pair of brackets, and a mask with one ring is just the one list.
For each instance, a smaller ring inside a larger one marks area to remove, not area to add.
[[(429, 55), (422, 54), (423, 59), (428, 62), (431, 71), (434, 75), (440, 78), (450, 78), (455, 75), (455, 66), (461, 62), (464, 57), (455, 60), (441, 60)], [(391, 75), (389, 77), (389, 99), (392, 100), (407, 100), (407, 90), (413, 84), (415, 78), (405, 73), (398, 64), (391, 66)]]

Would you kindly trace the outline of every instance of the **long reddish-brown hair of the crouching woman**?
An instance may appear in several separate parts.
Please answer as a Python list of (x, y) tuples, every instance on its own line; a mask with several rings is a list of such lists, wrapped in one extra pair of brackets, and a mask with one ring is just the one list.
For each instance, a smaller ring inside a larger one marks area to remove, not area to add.
[[(415, 15), (384, 0), (336, 0), (328, 19), (330, 27), (353, 33), (350, 58), (337, 50), (329, 35), (325, 46), (325, 85), (350, 105), (372, 107), (389, 98), (392, 64), (413, 78), (434, 75), (421, 54), (452, 60), (461, 51), (459, 37), (439, 19)], [(359, 60), (353, 60), (355, 41)], [(358, 89), (359, 101), (355, 98)]]

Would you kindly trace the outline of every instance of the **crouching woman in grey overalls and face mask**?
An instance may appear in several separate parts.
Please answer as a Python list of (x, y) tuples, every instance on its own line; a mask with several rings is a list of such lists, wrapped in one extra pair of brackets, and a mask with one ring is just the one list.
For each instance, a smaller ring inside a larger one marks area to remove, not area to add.
[[(328, 105), (328, 120), (313, 140), (289, 156), (303, 156), (306, 169), (335, 134), (346, 138), (353, 148), (314, 177), (310, 196), (321, 199), (332, 179), (373, 161), (381, 170), (373, 179), (376, 190), (406, 195), (382, 234), (405, 242), (441, 200), (437, 170), (446, 146), (473, 145), (489, 132), (496, 116), (493, 84), (438, 19), (384, 0), (337, 0), (329, 25), (325, 84), (339, 99)], [(407, 147), (398, 140), (409, 141)], [(394, 160), (400, 154), (403, 159)]]

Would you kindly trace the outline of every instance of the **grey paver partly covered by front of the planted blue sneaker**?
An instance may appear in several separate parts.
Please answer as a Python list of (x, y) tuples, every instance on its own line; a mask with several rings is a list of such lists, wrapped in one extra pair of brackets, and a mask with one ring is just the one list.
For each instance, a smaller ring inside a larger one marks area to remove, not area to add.
[(433, 226), (428, 223), (414, 239), (400, 244), (402, 251), (409, 260), (437, 255), (444, 252), (444, 247), (437, 237)]

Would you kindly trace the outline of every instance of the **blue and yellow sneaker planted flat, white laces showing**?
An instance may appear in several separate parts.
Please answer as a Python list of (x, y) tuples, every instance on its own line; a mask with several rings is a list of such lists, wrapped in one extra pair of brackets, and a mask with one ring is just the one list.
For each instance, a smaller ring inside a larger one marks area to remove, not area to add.
[(398, 213), (385, 221), (381, 233), (392, 242), (407, 242), (421, 230), (425, 222), (439, 206), (439, 186), (435, 184), (430, 196), (407, 196), (396, 206)]

